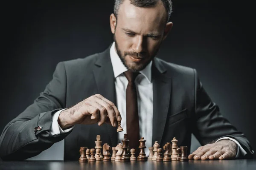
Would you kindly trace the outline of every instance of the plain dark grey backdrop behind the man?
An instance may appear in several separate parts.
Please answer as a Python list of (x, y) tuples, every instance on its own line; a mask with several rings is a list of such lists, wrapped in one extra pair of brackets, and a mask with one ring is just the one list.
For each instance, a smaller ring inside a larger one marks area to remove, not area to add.
[[(196, 68), (222, 114), (256, 149), (252, 4), (173, 0), (174, 23), (158, 57)], [(58, 62), (105, 50), (113, 41), (112, 0), (2, 4), (0, 131), (44, 90)], [(192, 149), (198, 147), (193, 140)]]

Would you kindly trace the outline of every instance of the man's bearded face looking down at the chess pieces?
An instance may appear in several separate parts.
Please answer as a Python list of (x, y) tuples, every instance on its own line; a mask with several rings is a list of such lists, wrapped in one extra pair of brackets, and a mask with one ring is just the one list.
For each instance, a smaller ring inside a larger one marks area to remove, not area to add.
[(122, 3), (114, 41), (116, 52), (128, 70), (141, 71), (155, 57), (165, 27), (166, 9), (161, 1), (149, 8), (136, 7), (129, 0)]

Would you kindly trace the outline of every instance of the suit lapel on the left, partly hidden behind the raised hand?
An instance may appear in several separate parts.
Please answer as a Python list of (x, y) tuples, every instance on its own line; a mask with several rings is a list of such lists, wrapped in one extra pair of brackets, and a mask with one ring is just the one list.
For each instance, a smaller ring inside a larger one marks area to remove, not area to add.
[[(95, 62), (93, 74), (95, 77), (99, 94), (101, 94), (103, 97), (110, 100), (116, 105), (115, 78), (114, 78), (113, 67), (110, 59), (110, 47), (106, 51), (99, 54), (100, 56)], [(105, 124), (105, 125), (108, 128), (108, 133), (111, 138), (111, 146), (116, 146), (117, 145), (117, 132), (116, 132), (117, 127), (113, 127), (108, 124)]]

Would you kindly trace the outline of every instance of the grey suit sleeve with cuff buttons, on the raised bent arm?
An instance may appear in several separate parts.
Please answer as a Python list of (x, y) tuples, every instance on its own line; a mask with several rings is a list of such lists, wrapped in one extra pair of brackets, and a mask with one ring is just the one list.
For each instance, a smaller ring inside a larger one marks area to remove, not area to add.
[(50, 133), (52, 115), (66, 105), (66, 86), (64, 62), (59, 62), (44, 92), (4, 128), (0, 136), (0, 157), (3, 160), (36, 156), (71, 132), (56, 136)]

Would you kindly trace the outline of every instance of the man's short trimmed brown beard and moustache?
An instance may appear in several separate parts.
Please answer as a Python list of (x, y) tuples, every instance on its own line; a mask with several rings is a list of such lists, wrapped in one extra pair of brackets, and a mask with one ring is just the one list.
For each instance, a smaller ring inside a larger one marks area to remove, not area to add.
[(136, 57), (136, 58), (140, 58), (140, 59), (147, 59), (148, 57), (146, 56), (145, 52), (142, 53), (136, 53), (136, 52), (129, 52), (129, 51), (124, 51), (124, 54), (122, 54), (118, 42), (116, 42), (116, 35), (114, 34), (114, 42), (115, 42), (115, 47), (116, 47), (116, 53), (119, 56), (119, 58), (121, 59), (123, 65), (125, 65), (125, 67), (132, 72), (139, 72), (142, 71), (144, 68), (147, 67), (148, 63), (151, 62), (151, 60), (157, 55), (157, 52), (159, 51), (160, 45), (158, 46), (157, 50), (154, 51), (154, 54), (152, 56), (149, 56), (149, 59), (147, 60), (147, 62), (142, 62), (142, 63), (137, 63), (135, 65), (128, 65), (128, 62), (125, 60), (125, 57), (127, 55), (132, 56), (132, 57)]

